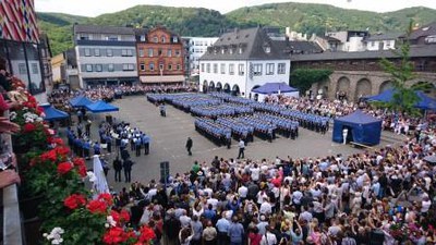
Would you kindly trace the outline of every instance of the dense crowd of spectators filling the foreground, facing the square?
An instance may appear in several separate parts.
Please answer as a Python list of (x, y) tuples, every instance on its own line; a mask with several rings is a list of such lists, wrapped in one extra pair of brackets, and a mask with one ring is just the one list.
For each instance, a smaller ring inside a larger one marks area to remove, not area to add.
[(435, 132), (349, 157), (195, 162), (114, 194), (154, 244), (435, 244)]

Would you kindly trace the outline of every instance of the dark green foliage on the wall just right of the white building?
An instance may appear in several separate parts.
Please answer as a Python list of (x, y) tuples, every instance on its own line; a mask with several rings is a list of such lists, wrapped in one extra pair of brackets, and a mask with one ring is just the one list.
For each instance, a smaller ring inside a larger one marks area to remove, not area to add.
[(331, 70), (296, 69), (291, 72), (291, 86), (305, 93), (312, 84), (327, 79), (331, 73)]

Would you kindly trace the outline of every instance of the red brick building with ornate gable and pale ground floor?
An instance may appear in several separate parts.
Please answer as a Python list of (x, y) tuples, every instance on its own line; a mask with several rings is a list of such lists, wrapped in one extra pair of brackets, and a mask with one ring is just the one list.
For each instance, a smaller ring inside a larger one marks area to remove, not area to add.
[(165, 27), (136, 33), (137, 71), (143, 84), (183, 83), (183, 44)]

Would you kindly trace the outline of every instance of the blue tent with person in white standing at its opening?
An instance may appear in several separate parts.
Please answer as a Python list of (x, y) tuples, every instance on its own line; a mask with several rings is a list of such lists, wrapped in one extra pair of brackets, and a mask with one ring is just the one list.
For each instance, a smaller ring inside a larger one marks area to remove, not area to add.
[(378, 145), (382, 136), (382, 120), (363, 113), (361, 110), (336, 119), (334, 123), (332, 140), (343, 142), (342, 131), (348, 128), (347, 142), (363, 145)]

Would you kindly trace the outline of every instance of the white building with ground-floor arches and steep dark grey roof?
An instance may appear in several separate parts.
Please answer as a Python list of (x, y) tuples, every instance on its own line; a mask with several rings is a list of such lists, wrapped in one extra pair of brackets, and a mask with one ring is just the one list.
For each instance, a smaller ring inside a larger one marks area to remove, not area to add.
[(263, 28), (226, 33), (199, 59), (199, 89), (253, 98), (266, 83), (289, 84), (289, 41), (271, 40)]

